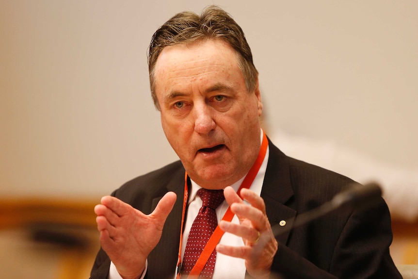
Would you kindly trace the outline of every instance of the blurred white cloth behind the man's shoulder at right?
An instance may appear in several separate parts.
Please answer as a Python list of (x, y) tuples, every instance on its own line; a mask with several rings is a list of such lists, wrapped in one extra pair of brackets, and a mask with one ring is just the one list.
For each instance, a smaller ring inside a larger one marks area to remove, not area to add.
[(277, 129), (270, 136), (273, 143), (290, 157), (335, 171), (360, 183), (379, 183), (392, 217), (409, 222), (418, 219), (418, 169), (387, 164), (333, 142), (290, 135)]

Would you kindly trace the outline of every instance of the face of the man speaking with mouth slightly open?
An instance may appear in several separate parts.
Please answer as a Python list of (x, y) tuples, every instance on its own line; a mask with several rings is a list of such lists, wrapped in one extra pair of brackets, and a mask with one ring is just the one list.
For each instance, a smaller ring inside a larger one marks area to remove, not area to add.
[(162, 129), (190, 178), (207, 189), (240, 180), (260, 149), (262, 104), (235, 50), (219, 39), (165, 47), (155, 81)]

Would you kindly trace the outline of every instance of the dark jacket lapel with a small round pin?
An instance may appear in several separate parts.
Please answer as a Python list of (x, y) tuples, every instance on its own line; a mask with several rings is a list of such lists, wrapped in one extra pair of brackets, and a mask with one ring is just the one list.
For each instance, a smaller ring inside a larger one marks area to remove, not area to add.
[(266, 213), (279, 243), (289, 238), (289, 226), (296, 216), (293, 204), (293, 189), (290, 180), (288, 157), (269, 140), (269, 162), (264, 177), (261, 197), (266, 204)]

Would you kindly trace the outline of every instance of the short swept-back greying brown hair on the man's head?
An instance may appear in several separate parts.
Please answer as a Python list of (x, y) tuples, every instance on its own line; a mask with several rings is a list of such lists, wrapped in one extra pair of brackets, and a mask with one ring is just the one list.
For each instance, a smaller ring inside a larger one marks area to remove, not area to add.
[(158, 110), (160, 105), (155, 93), (155, 65), (162, 49), (199, 39), (222, 39), (235, 49), (248, 92), (256, 89), (258, 72), (241, 27), (228, 13), (212, 5), (205, 8), (200, 16), (193, 12), (178, 13), (152, 36), (148, 48), (148, 70), (151, 96)]

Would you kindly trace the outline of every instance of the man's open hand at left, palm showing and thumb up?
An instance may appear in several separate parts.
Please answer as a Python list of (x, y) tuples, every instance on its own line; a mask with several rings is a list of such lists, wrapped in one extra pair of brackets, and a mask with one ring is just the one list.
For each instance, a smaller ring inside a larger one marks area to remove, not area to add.
[(145, 261), (161, 238), (162, 228), (173, 209), (176, 194), (161, 198), (155, 210), (146, 215), (116, 197), (102, 197), (96, 205), (100, 245), (124, 279), (139, 278)]

